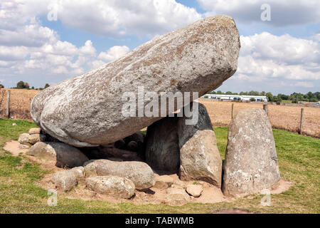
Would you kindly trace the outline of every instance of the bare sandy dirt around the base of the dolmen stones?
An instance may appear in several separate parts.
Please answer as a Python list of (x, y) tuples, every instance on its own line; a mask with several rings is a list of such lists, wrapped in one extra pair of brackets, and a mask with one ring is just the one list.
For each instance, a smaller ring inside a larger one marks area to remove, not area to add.
[[(56, 167), (54, 162), (45, 162), (39, 160), (36, 157), (26, 155), (28, 150), (21, 149), (18, 147), (18, 141), (11, 140), (6, 142), (4, 150), (11, 152), (14, 156), (23, 155), (31, 162), (36, 162), (41, 164), (41, 167), (45, 170), (49, 170), (50, 173), (44, 175), (44, 177), (37, 183), (39, 187), (42, 187), (45, 190), (55, 189), (55, 185), (50, 181), (52, 175), (55, 172), (63, 171), (65, 169)], [(162, 175), (162, 174), (160, 174)], [(186, 187), (186, 185), (194, 184), (193, 181), (181, 181), (178, 178), (178, 175), (170, 175), (174, 179), (175, 187)], [(190, 197), (189, 202), (191, 203), (215, 203), (215, 202), (232, 202), (235, 200), (234, 197), (225, 197), (221, 192), (220, 188), (208, 184), (207, 182), (197, 181), (197, 185), (202, 185), (203, 192), (200, 197)], [(292, 186), (291, 182), (286, 180), (280, 180), (279, 185), (274, 190), (271, 190), (271, 194), (279, 194), (281, 192), (289, 190)], [(156, 187), (151, 187), (150, 190), (146, 192), (135, 190), (135, 195), (132, 199), (118, 199), (110, 195), (101, 195), (92, 190), (88, 190), (85, 185), (85, 178), (78, 180), (78, 185), (73, 188), (70, 192), (63, 192), (58, 190), (58, 194), (67, 197), (70, 199), (82, 199), (82, 200), (106, 200), (108, 202), (132, 202), (134, 204), (171, 204), (171, 205), (180, 205), (181, 202), (169, 202), (166, 198), (166, 190), (161, 190)], [(249, 196), (250, 197), (250, 196)], [(242, 213), (242, 211), (221, 211), (220, 213)], [(243, 212), (246, 213), (246, 212)]]

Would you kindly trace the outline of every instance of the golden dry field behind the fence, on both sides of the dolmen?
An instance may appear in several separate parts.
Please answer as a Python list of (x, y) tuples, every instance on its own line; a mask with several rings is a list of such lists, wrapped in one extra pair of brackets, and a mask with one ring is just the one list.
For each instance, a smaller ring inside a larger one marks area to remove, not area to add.
[[(6, 90), (0, 89), (0, 118), (6, 118)], [(30, 103), (38, 90), (10, 89), (10, 115), (14, 119), (31, 120)], [(231, 121), (231, 102), (199, 99), (206, 105), (213, 126), (228, 126)], [(261, 103), (235, 103), (233, 115), (243, 108), (262, 108)], [(302, 134), (320, 138), (320, 108), (303, 107), (304, 124)], [(269, 118), (273, 128), (297, 133), (299, 130), (299, 106), (269, 105)]]

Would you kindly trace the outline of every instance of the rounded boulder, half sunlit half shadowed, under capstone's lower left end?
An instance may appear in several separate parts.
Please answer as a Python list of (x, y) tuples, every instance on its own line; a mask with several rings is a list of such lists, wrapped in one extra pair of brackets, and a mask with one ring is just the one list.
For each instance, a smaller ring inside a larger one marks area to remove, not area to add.
[(88, 160), (80, 150), (63, 142), (37, 142), (27, 154), (54, 161), (58, 167), (82, 166)]

